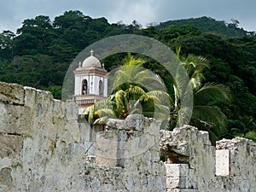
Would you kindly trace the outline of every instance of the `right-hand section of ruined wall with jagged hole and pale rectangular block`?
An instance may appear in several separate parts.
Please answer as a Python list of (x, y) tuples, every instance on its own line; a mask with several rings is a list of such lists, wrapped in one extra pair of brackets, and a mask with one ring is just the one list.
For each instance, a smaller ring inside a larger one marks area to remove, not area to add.
[(206, 131), (189, 125), (160, 134), (167, 191), (256, 191), (256, 143), (236, 137), (215, 148)]

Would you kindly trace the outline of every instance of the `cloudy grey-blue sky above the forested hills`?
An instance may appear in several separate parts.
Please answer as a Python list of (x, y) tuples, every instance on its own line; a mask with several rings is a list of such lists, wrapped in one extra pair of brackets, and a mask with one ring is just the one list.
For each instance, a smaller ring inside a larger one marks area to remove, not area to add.
[(108, 22), (146, 26), (163, 22), (209, 16), (216, 20), (240, 21), (240, 27), (256, 31), (255, 0), (0, 0), (0, 32), (16, 31), (25, 19), (48, 15), (51, 20), (67, 10), (80, 10), (90, 17), (105, 17)]

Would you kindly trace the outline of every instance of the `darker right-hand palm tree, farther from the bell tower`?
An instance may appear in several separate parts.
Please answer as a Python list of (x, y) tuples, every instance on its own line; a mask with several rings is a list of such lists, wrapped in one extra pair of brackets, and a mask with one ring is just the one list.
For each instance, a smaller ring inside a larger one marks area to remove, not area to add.
[[(215, 143), (225, 129), (226, 121), (224, 113), (217, 104), (230, 102), (230, 89), (224, 84), (202, 83), (204, 80), (203, 70), (209, 67), (204, 57), (191, 54), (183, 57), (180, 55), (180, 47), (177, 49), (177, 56), (189, 75), (188, 85), (193, 89), (194, 106), (189, 124), (195, 125), (200, 130), (208, 131), (212, 143)], [(177, 89), (177, 82), (180, 82), (178, 76), (174, 82), (175, 107), (170, 118), (171, 129), (177, 125), (180, 111), (180, 96)]]

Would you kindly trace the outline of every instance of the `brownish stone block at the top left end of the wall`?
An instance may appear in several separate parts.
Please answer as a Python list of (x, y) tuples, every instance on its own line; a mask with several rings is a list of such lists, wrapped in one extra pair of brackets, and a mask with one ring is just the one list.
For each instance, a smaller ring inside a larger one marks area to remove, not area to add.
[(24, 89), (20, 84), (0, 82), (0, 102), (24, 104)]

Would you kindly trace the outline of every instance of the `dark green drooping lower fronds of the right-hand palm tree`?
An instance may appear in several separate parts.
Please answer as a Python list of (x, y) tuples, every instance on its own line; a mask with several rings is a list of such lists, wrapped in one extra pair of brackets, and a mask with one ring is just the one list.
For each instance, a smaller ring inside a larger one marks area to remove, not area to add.
[(208, 131), (213, 143), (225, 130), (226, 116), (218, 103), (230, 102), (230, 90), (224, 84), (207, 83), (194, 90), (191, 124)]

